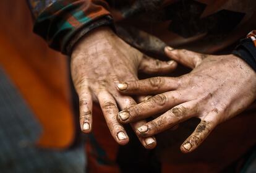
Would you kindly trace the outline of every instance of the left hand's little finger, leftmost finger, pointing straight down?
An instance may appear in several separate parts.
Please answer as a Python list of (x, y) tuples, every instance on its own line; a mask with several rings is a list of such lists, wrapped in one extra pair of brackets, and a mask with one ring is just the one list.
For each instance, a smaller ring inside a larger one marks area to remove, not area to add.
[(79, 122), (83, 133), (92, 131), (92, 94), (87, 86), (80, 87), (79, 95)]

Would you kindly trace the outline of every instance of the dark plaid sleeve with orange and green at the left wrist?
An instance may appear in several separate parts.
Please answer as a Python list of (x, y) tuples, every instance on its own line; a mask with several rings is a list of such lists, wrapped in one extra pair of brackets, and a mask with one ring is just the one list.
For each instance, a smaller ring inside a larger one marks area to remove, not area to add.
[(28, 4), (35, 18), (33, 32), (63, 54), (70, 54), (93, 28), (113, 24), (105, 0), (28, 0)]

